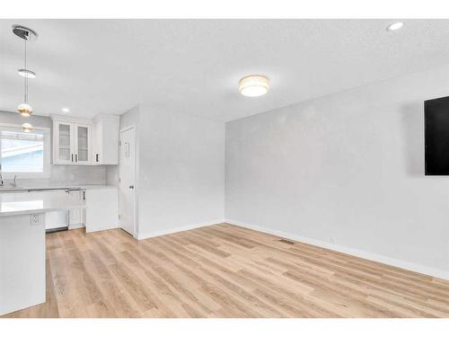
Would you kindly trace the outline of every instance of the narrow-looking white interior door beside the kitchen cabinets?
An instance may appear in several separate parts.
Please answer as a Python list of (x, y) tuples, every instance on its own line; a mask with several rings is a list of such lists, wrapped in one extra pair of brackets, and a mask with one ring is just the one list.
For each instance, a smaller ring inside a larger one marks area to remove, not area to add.
[(136, 129), (120, 130), (120, 228), (136, 235)]

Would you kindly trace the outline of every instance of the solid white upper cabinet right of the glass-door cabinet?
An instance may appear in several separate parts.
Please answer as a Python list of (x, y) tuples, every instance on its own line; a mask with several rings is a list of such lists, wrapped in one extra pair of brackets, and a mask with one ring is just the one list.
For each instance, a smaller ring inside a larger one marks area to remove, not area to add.
[(93, 164), (119, 164), (119, 116), (99, 115), (93, 120)]

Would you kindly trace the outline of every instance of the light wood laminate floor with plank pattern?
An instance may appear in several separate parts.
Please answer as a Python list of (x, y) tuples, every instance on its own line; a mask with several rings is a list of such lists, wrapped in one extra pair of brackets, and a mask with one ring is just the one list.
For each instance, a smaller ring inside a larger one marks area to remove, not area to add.
[(47, 302), (4, 317), (449, 317), (449, 281), (220, 224), (47, 235)]

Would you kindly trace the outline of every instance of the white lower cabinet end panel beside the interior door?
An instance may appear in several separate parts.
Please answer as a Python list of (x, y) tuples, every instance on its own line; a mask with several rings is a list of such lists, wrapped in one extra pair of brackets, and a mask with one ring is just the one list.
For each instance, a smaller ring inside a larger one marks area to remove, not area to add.
[(82, 191), (85, 198), (86, 233), (119, 227), (119, 188), (108, 187)]

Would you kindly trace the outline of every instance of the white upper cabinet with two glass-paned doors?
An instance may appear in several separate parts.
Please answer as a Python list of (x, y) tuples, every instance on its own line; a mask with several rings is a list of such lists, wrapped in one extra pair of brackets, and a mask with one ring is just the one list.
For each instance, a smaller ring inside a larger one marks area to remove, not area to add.
[(53, 118), (53, 164), (92, 164), (90, 120)]

